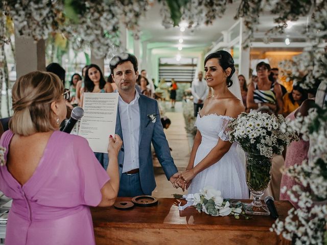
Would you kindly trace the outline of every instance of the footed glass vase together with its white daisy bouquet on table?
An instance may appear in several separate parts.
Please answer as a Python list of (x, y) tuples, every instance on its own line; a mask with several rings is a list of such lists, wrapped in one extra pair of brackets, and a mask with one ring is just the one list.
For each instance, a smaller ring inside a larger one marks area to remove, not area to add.
[(227, 126), (229, 141), (238, 142), (246, 155), (246, 183), (254, 197), (246, 213), (269, 215), (261, 197), (270, 182), (273, 154), (282, 154), (284, 147), (297, 140), (296, 132), (282, 115), (243, 112)]

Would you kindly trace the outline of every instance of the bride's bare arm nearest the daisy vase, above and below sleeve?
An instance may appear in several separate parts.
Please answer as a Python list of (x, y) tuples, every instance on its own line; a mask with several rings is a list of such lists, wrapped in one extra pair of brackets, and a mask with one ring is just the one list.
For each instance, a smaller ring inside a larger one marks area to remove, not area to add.
[[(226, 115), (232, 118), (236, 118), (239, 114), (244, 111), (244, 106), (241, 102), (233, 103), (233, 105), (229, 106), (226, 110)], [(221, 139), (218, 140), (215, 147), (199, 162), (195, 167), (190, 170), (186, 170), (182, 173), (182, 178), (188, 182), (192, 180), (198, 173), (200, 173), (205, 168), (213, 165), (214, 163), (218, 162), (230, 149), (231, 142), (223, 141)], [(195, 151), (196, 152), (196, 151)], [(193, 149), (192, 149), (193, 153)], [(191, 156), (192, 156), (191, 153)], [(195, 154), (195, 153), (194, 153)], [(191, 159), (190, 159), (191, 161)], [(194, 159), (193, 159), (194, 162)], [(189, 163), (190, 164), (190, 163)]]

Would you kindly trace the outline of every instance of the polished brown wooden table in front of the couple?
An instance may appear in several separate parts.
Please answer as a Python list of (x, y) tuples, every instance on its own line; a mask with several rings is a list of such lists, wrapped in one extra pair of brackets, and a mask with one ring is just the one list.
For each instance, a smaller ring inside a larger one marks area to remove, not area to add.
[[(130, 201), (118, 198), (117, 201)], [(243, 200), (250, 202), (250, 200)], [(214, 217), (199, 213), (194, 207), (178, 210), (179, 200), (158, 199), (152, 207), (130, 210), (91, 208), (97, 244), (290, 244), (269, 228), (270, 216), (253, 215)], [(183, 200), (183, 202), (185, 202)], [(279, 217), (284, 219), (292, 207), (288, 201), (275, 202)]]

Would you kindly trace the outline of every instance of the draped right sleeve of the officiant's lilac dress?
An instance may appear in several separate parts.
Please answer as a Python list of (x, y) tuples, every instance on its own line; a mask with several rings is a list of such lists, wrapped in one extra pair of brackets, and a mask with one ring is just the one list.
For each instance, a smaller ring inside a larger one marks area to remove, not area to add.
[(110, 180), (86, 139), (78, 137), (74, 142), (80, 171), (81, 195), (84, 205), (98, 206), (102, 200), (101, 188)]

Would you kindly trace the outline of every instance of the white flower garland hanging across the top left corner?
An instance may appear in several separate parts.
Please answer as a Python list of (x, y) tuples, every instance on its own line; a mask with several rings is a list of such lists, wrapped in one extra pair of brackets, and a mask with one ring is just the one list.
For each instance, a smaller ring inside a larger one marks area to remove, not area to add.
[[(120, 49), (119, 21), (139, 38), (139, 18), (149, 8), (147, 0), (33, 0), (2, 2), (13, 18), (21, 36), (46, 39), (50, 33), (61, 32), (71, 39), (75, 50), (92, 47), (97, 58), (112, 56)], [(122, 18), (123, 16), (123, 18)], [(9, 42), (5, 33), (0, 39)]]

